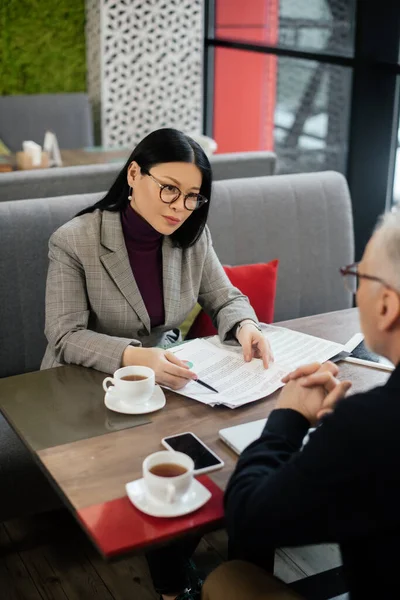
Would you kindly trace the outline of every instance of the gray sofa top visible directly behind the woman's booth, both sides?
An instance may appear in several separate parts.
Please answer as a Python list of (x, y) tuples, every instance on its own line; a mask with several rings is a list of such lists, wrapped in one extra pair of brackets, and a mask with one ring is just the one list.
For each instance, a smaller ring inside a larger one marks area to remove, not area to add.
[[(215, 181), (273, 175), (276, 166), (273, 152), (215, 154), (210, 161)], [(123, 164), (115, 162), (3, 173), (0, 177), (0, 202), (102, 192), (111, 187)]]

